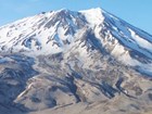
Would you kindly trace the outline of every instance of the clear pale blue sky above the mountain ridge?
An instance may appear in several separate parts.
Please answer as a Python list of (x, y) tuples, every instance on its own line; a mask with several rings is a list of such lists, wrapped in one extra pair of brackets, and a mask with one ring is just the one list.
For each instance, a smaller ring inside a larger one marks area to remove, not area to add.
[(0, 0), (0, 25), (64, 8), (102, 8), (152, 35), (152, 0)]

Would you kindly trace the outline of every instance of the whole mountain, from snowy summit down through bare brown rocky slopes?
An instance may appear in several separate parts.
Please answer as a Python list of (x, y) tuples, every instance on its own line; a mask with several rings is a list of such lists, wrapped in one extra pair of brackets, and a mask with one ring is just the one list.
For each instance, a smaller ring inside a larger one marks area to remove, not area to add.
[(110, 103), (107, 114), (151, 107), (152, 36), (100, 8), (42, 12), (2, 26), (0, 53), (3, 112), (79, 102)]

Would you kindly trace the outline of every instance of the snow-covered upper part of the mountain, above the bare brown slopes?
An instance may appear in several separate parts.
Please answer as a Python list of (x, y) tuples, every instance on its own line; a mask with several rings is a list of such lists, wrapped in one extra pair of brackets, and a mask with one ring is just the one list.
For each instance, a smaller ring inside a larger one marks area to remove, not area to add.
[(152, 36), (99, 8), (42, 12), (2, 26), (0, 51), (35, 55), (64, 52), (83, 31), (94, 37), (88, 38), (87, 47), (104, 49), (126, 65), (151, 74)]

